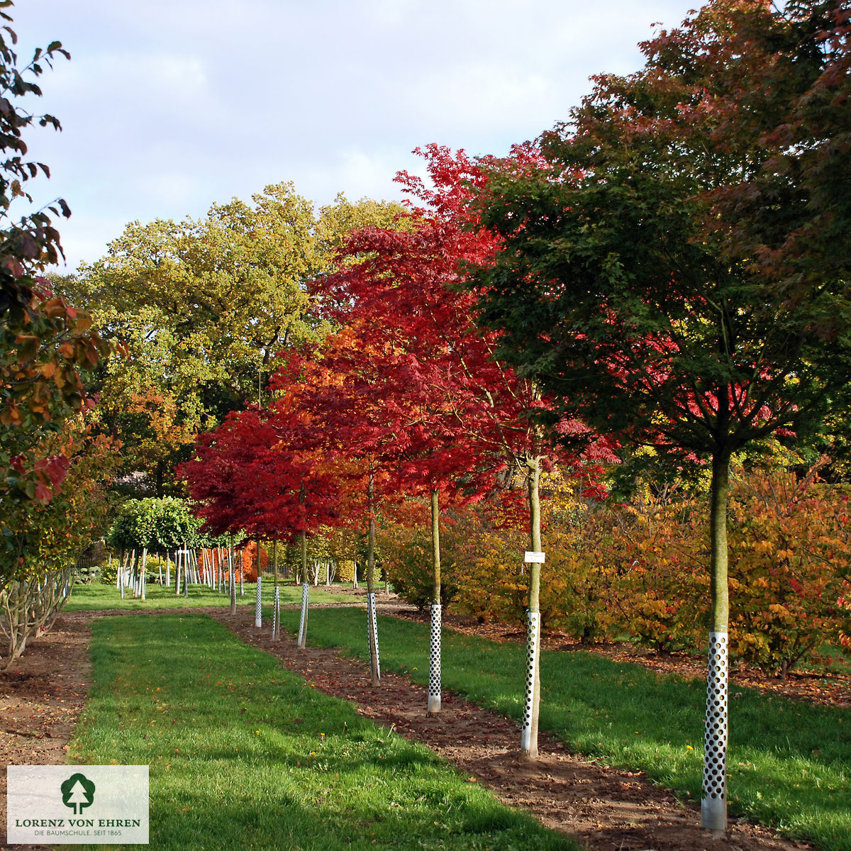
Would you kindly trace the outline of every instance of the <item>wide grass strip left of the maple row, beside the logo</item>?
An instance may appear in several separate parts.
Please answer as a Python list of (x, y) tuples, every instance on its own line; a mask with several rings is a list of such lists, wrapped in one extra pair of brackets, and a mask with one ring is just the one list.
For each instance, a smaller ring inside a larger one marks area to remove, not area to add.
[(69, 756), (150, 766), (151, 848), (576, 848), (204, 615), (101, 618), (91, 648)]

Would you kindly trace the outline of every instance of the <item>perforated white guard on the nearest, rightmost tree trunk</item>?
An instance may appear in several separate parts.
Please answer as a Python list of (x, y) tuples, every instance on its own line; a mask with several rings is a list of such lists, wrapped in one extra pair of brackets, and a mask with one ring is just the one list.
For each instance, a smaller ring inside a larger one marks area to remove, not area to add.
[(727, 653), (727, 633), (710, 632), (700, 824), (712, 831), (727, 830)]

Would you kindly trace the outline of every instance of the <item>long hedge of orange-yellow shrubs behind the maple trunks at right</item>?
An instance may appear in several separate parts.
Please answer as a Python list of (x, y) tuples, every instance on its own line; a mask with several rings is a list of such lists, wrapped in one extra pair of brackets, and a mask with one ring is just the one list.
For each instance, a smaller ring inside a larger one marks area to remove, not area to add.
[[(582, 497), (546, 476), (542, 517), (546, 631), (580, 643), (625, 637), (660, 654), (694, 653), (709, 610), (709, 503), (703, 491), (644, 483), (628, 501)], [(851, 618), (848, 488), (780, 452), (765, 465), (734, 463), (730, 516), (730, 653), (733, 661), (785, 677), (830, 654)], [(443, 603), (484, 622), (523, 625), (528, 573), (517, 563), (524, 530), (499, 523), (488, 505), (451, 511), (442, 538)], [(383, 522), (379, 542), (397, 592), (430, 599), (427, 535)], [(487, 589), (487, 593), (483, 593)], [(832, 651), (837, 652), (837, 651)]]

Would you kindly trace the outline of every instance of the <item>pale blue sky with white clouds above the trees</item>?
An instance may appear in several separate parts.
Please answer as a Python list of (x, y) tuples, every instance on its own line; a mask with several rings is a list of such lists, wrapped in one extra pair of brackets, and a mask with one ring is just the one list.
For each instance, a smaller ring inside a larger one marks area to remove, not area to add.
[(292, 180), (328, 203), (396, 198), (414, 147), (503, 154), (568, 115), (588, 77), (641, 65), (686, 0), (16, 0), (20, 59), (60, 40), (31, 155), (64, 197), (68, 266), (132, 220), (200, 216)]

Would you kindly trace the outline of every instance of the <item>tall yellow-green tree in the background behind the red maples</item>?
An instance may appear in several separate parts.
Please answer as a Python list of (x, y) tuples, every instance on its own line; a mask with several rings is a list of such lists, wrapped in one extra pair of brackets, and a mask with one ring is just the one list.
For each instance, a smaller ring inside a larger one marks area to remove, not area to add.
[(104, 257), (58, 281), (123, 346), (96, 384), (123, 471), (146, 472), (162, 494), (198, 432), (267, 401), (277, 353), (319, 330), (306, 284), (330, 268), (347, 229), (398, 212), (340, 196), (317, 214), (292, 184), (266, 186), (198, 220), (133, 222)]

